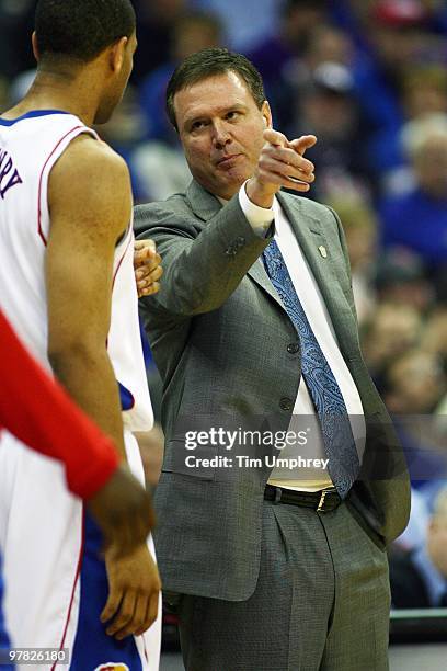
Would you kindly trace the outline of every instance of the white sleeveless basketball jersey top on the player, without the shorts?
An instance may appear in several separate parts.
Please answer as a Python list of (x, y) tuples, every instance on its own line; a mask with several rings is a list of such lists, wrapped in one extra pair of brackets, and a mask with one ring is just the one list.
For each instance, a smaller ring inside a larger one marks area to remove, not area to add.
[[(64, 112), (36, 111), (11, 122), (0, 120), (0, 306), (48, 369), (44, 273), (50, 229), (48, 178), (70, 141), (82, 133), (101, 141), (77, 116)], [(131, 431), (145, 431), (152, 425), (152, 409), (139, 332), (133, 255), (130, 221), (115, 250), (107, 350), (127, 398), (129, 409), (123, 412), (124, 422)]]

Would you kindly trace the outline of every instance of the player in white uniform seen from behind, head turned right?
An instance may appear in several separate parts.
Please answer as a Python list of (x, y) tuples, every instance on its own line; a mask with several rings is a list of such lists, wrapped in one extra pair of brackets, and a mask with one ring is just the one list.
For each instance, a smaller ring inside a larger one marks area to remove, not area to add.
[[(142, 479), (133, 432), (149, 429), (152, 412), (130, 182), (90, 128), (122, 99), (136, 46), (129, 0), (37, 2), (37, 75), (0, 117), (0, 306)], [(99, 530), (60, 465), (9, 434), (3, 441), (0, 545), (13, 645), (68, 647), (71, 671), (158, 669), (160, 581), (148, 546), (119, 559), (106, 550), (100, 562)]]

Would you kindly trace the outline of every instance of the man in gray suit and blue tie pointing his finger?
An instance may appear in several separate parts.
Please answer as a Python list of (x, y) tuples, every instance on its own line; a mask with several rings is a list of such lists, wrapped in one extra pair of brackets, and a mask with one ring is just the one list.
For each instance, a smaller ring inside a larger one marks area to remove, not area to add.
[(135, 219), (163, 258), (141, 312), (163, 380), (158, 558), (185, 667), (382, 671), (385, 546), (409, 482), (362, 359), (340, 220), (279, 191), (309, 190), (316, 138), (273, 130), (259, 72), (226, 49), (180, 65), (167, 102), (194, 179)]

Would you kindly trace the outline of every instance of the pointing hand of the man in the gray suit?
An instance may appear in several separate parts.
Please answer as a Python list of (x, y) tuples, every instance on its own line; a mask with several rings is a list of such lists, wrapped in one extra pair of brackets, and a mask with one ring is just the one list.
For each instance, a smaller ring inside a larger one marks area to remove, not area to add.
[(249, 198), (261, 207), (271, 207), (282, 186), (306, 193), (314, 181), (313, 163), (305, 152), (317, 143), (314, 135), (289, 141), (283, 133), (267, 128), (254, 175), (247, 183)]

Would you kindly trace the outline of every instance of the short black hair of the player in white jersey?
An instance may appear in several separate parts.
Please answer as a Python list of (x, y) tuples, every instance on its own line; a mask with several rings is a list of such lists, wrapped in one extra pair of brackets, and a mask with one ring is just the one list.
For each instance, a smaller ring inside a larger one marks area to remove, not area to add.
[(38, 0), (35, 31), (42, 57), (89, 62), (136, 30), (130, 0)]

